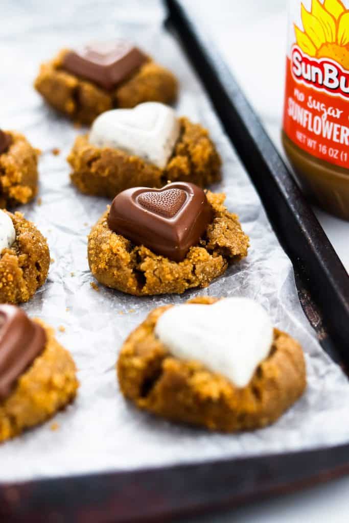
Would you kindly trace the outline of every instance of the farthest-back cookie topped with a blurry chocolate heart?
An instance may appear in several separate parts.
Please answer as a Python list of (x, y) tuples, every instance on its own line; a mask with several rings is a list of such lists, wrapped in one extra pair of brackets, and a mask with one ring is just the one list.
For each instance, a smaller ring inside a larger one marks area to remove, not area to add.
[(170, 71), (123, 40), (63, 49), (41, 65), (34, 86), (52, 107), (83, 124), (115, 107), (171, 104), (178, 90)]

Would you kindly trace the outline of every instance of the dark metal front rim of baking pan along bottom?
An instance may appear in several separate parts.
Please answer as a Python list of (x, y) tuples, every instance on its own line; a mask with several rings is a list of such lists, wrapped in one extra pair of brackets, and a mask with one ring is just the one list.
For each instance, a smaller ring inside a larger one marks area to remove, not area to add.
[(349, 445), (0, 486), (6, 523), (151, 523), (291, 493), (349, 472)]

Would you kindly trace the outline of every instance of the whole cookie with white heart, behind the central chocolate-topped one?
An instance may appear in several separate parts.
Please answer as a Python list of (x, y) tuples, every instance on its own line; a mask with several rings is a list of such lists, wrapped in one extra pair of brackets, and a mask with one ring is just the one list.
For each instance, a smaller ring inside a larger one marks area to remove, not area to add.
[(76, 138), (67, 161), (78, 190), (108, 198), (168, 181), (206, 187), (220, 179), (221, 167), (208, 131), (157, 103), (104, 113), (89, 135)]

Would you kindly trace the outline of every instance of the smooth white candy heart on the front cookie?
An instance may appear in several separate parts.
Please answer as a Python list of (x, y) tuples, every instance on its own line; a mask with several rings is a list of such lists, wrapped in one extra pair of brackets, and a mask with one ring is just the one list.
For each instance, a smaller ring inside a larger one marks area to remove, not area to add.
[(170, 353), (197, 360), (238, 387), (246, 386), (273, 343), (267, 312), (249, 298), (213, 305), (175, 305), (160, 316), (155, 335)]

